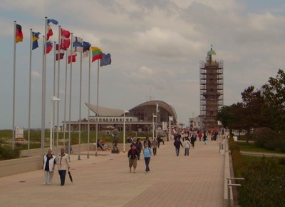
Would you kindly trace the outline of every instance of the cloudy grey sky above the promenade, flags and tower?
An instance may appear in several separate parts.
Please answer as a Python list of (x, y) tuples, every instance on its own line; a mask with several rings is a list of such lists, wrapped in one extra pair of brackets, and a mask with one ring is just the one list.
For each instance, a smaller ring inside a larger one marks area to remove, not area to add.
[[(15, 125), (26, 128), (30, 29), (41, 32), (39, 48), (33, 51), (31, 80), (31, 127), (41, 127), (45, 16), (112, 55), (112, 64), (100, 68), (100, 106), (128, 110), (150, 99), (165, 101), (175, 108), (181, 123), (199, 115), (199, 61), (205, 59), (211, 44), (217, 59), (224, 61), (225, 105), (241, 101), (244, 89), (259, 88), (285, 65), (284, 0), (2, 0), (0, 16), (0, 128), (12, 126), (14, 21), (24, 33), (24, 41), (16, 44)], [(55, 34), (51, 39), (57, 41), (58, 26), (51, 26)], [(60, 121), (64, 67), (62, 62)], [(90, 99), (96, 104), (97, 62), (91, 67)], [(72, 120), (79, 117), (79, 69), (77, 61), (73, 64)], [(88, 59), (83, 59), (82, 79), (82, 102), (87, 102)], [(52, 89), (53, 55), (48, 54), (46, 127)], [(85, 105), (82, 117), (87, 117)]]

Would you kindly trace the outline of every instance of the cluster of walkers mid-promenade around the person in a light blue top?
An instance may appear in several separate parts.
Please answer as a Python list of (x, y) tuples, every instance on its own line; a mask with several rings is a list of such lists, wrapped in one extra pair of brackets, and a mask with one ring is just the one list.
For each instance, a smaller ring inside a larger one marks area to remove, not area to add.
[(137, 161), (140, 160), (141, 152), (145, 158), (145, 173), (150, 172), (150, 157), (152, 155), (157, 155), (157, 148), (159, 148), (160, 142), (162, 140), (159, 138), (159, 141), (157, 141), (157, 139), (153, 138), (153, 141), (150, 141), (150, 138), (146, 137), (145, 141), (143, 141), (143, 144), (140, 142), (140, 138), (137, 138), (136, 142), (133, 141), (133, 138), (131, 139), (133, 142), (131, 143), (130, 150), (128, 151), (130, 172), (132, 172), (133, 167), (133, 173), (135, 173), (135, 168), (137, 168)]

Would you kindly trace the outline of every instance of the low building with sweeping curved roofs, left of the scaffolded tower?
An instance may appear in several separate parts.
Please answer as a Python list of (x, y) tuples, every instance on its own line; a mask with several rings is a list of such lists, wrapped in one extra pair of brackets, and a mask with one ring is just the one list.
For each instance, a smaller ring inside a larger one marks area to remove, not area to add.
[[(123, 128), (123, 123), (127, 124), (126, 131), (151, 131), (152, 130), (152, 117), (154, 118), (155, 125), (162, 130), (167, 130), (167, 126), (170, 123), (172, 126), (177, 125), (177, 114), (175, 109), (170, 104), (164, 101), (146, 101), (128, 110), (128, 113), (124, 114), (123, 109), (107, 108), (103, 106), (96, 106), (86, 103), (86, 106), (90, 108), (90, 111), (96, 113), (95, 116), (90, 116), (90, 130), (95, 130), (95, 123), (98, 124), (99, 131), (103, 131), (104, 128), (118, 128), (120, 131)], [(125, 116), (124, 116), (125, 115)], [(155, 116), (154, 116), (155, 115)], [(66, 124), (65, 128), (69, 128)], [(81, 122), (81, 130), (87, 130), (87, 122)], [(78, 121), (71, 123), (71, 130), (78, 131)]]

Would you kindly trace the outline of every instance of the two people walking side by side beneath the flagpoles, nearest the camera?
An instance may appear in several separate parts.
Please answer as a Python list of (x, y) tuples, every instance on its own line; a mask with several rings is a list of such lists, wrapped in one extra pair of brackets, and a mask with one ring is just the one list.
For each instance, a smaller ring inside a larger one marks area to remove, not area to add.
[(61, 153), (58, 156), (52, 154), (51, 149), (48, 149), (48, 153), (43, 156), (43, 173), (44, 173), (44, 183), (43, 185), (51, 185), (53, 182), (53, 172), (57, 165), (58, 174), (61, 178), (61, 186), (64, 186), (66, 181), (66, 171), (69, 171), (70, 164), (68, 161), (68, 154), (65, 153), (64, 148), (61, 148)]

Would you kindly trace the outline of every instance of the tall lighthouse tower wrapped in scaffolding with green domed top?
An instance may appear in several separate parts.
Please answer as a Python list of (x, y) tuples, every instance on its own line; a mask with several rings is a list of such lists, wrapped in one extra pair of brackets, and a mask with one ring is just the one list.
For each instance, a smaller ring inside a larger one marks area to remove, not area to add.
[(224, 105), (223, 61), (217, 61), (216, 52), (208, 51), (206, 61), (200, 61), (200, 118), (202, 127), (219, 130), (216, 120), (219, 108)]

